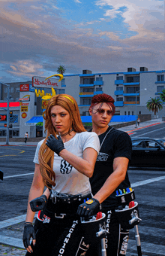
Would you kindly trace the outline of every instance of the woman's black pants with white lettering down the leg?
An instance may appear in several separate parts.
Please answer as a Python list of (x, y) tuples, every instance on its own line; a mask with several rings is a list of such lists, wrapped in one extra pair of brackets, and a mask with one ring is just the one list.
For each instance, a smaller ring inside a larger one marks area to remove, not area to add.
[[(34, 223), (36, 243), (31, 244), (33, 253), (26, 256), (80, 256), (85, 255), (89, 248), (81, 228), (80, 218), (76, 215), (77, 208), (83, 202), (64, 204), (60, 206), (61, 212), (68, 212), (64, 218), (55, 218), (58, 210), (51, 200), (48, 200), (46, 209), (38, 212)], [(53, 209), (54, 208), (54, 209)], [(52, 212), (50, 212), (50, 209)], [(59, 217), (62, 215), (58, 214)], [(58, 217), (58, 216), (57, 216)]]

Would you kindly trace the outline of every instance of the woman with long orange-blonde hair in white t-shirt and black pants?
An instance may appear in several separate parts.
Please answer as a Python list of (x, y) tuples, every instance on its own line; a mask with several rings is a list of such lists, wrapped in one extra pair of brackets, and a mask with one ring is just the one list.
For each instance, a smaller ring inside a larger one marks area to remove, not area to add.
[[(78, 256), (89, 245), (83, 242), (77, 208), (92, 198), (89, 178), (100, 142), (96, 133), (84, 129), (77, 102), (70, 95), (52, 97), (44, 119), (47, 136), (38, 143), (34, 156), (34, 178), (23, 233), (26, 255)], [(45, 186), (49, 190), (43, 194)], [(93, 208), (99, 208), (98, 200), (92, 202)], [(34, 227), (31, 209), (43, 209), (38, 212)]]

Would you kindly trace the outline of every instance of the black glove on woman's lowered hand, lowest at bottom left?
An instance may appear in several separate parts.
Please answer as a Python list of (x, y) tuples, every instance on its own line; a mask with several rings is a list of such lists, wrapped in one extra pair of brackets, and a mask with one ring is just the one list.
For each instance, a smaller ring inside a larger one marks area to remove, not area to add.
[(36, 239), (35, 237), (35, 232), (34, 232), (34, 227), (33, 224), (27, 223), (25, 224), (24, 230), (23, 230), (23, 245), (25, 248), (28, 248), (30, 245), (30, 239)]

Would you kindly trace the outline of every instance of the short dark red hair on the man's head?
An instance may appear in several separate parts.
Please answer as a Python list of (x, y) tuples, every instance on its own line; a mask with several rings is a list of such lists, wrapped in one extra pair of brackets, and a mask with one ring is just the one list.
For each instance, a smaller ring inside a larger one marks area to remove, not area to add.
[(115, 102), (115, 100), (113, 99), (113, 97), (111, 97), (110, 95), (108, 95), (106, 93), (97, 94), (97, 95), (93, 96), (92, 104), (90, 105), (89, 109), (93, 108), (98, 103), (107, 103), (107, 105), (109, 105), (109, 107), (111, 106), (111, 108), (113, 109), (112, 114), (115, 114), (114, 102)]

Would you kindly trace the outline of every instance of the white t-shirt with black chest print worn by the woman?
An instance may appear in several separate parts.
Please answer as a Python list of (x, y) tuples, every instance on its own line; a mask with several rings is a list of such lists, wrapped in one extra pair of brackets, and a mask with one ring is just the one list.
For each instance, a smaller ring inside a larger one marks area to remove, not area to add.
[[(43, 140), (37, 145), (37, 149), (34, 156), (34, 163), (39, 163), (38, 153), (40, 145)], [(100, 142), (96, 133), (76, 133), (76, 135), (68, 142), (64, 143), (65, 149), (71, 153), (83, 158), (83, 151), (86, 148), (94, 148), (95, 151), (99, 152)], [(53, 190), (63, 194), (80, 194), (86, 191), (91, 191), (91, 185), (89, 178), (83, 173), (78, 172), (74, 166), (65, 161), (58, 154), (54, 153), (53, 171), (55, 172), (55, 187)]]

